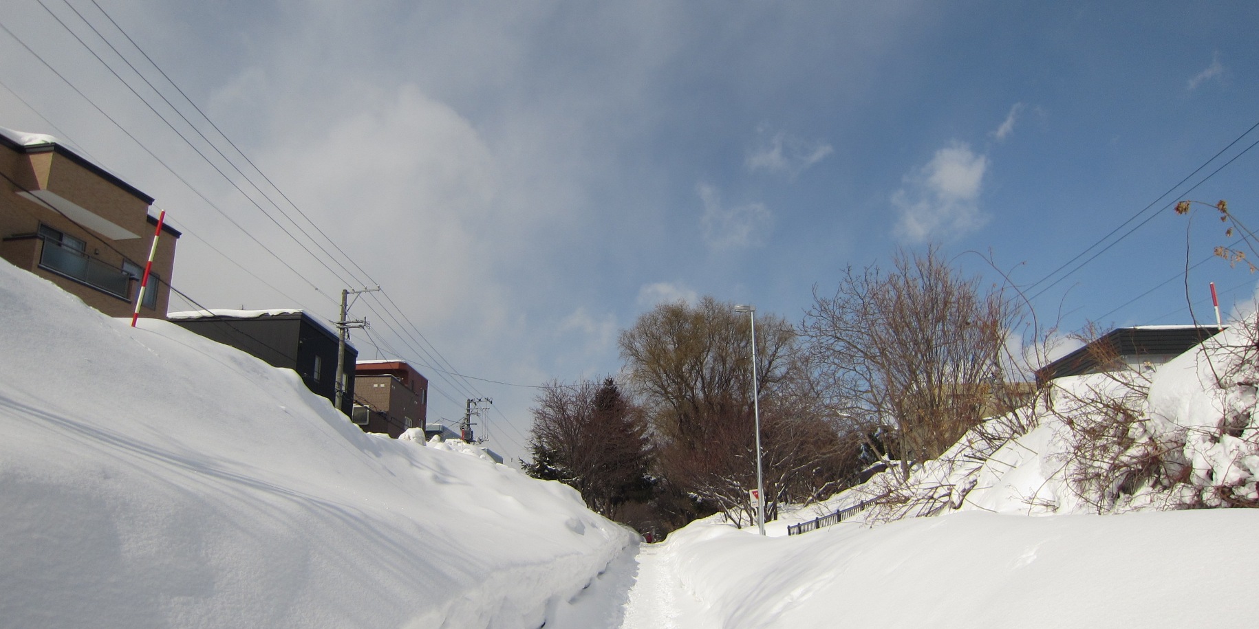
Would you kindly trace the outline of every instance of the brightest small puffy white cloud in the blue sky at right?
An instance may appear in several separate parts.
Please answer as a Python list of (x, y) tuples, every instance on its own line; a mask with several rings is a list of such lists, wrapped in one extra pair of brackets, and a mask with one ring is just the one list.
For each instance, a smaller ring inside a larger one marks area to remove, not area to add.
[(987, 223), (978, 205), (987, 170), (988, 157), (966, 143), (935, 151), (930, 162), (905, 175), (904, 186), (893, 192), (891, 205), (900, 214), (893, 233), (924, 243), (980, 229)]

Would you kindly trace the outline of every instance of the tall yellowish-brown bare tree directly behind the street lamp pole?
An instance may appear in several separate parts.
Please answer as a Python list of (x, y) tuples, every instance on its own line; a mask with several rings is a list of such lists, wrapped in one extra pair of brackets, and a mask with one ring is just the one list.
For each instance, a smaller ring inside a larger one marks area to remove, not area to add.
[(755, 487), (754, 395), (762, 404), (768, 499), (810, 497), (833, 478), (838, 452), (838, 438), (813, 414), (816, 406), (791, 390), (798, 374), (792, 326), (758, 317), (757, 391), (748, 326), (730, 303), (704, 297), (694, 306), (660, 304), (619, 338), (662, 473), (737, 523), (750, 522), (753, 513), (747, 492)]

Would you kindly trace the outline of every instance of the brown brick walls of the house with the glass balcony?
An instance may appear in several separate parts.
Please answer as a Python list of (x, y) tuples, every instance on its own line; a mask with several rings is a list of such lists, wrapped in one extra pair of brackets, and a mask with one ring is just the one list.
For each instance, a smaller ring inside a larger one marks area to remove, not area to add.
[[(149, 218), (151, 199), (59, 147), (14, 148), (6, 142), (0, 142), (0, 169), (4, 175), (0, 177), (0, 257), (58, 284), (106, 314), (130, 317), (137, 298), (138, 282), (132, 281), (127, 284), (123, 291), (127, 296), (125, 298), (40, 268), (39, 260), (45, 243), (37, 234), (39, 225), (45, 224), (86, 242), (84, 253), (91, 259), (98, 260), (102, 268), (121, 272), (123, 259), (144, 267), (155, 228)], [(115, 239), (102, 235), (81, 226), (38, 200), (19, 195), (30, 191), (54, 192), (135, 234), (135, 238)], [(171, 279), (176, 238), (175, 230), (165, 229), (162, 238), (159, 239), (154, 272), (164, 282)], [(141, 308), (140, 313), (146, 317), (164, 317), (170, 301), (170, 289), (161, 282), (150, 286), (157, 289), (156, 307)]]

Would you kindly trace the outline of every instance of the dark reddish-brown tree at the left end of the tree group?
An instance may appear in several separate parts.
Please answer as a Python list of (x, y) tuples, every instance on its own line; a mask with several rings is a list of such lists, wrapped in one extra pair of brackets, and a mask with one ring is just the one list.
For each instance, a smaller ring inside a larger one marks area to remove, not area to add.
[(592, 509), (612, 516), (626, 493), (645, 482), (651, 448), (637, 409), (608, 377), (602, 384), (550, 382), (538, 395), (529, 434), (534, 462), (525, 472), (560, 481)]

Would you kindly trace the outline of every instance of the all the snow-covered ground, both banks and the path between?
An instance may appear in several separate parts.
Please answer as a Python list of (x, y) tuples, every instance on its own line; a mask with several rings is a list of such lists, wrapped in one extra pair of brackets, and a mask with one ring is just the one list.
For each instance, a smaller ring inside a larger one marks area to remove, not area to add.
[(1168, 365), (1129, 442), (1187, 489), (1079, 499), (1050, 414), (920, 469), (935, 517), (786, 536), (856, 491), (640, 546), (564, 486), (363, 434), (296, 374), (0, 263), (0, 628), (1250, 626), (1259, 511), (1155, 507), (1249, 496), (1253, 390)]

